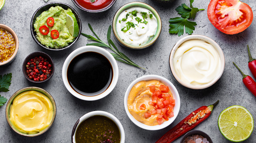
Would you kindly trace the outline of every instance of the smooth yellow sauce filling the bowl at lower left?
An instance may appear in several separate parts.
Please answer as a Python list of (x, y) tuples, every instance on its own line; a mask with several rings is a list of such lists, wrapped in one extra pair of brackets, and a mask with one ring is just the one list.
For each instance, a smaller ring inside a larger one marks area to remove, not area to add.
[(41, 92), (25, 91), (12, 101), (10, 121), (21, 133), (37, 134), (49, 126), (52, 118), (53, 104)]

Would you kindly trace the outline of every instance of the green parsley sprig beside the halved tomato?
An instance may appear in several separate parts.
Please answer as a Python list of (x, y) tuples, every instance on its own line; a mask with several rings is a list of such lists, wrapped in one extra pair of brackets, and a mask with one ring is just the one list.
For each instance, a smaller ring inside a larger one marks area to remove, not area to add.
[(189, 2), (190, 7), (188, 7), (186, 4), (181, 4), (181, 6), (175, 9), (178, 14), (181, 14), (181, 17), (171, 18), (169, 20), (169, 26), (171, 27), (169, 28), (169, 33), (178, 33), (178, 36), (181, 36), (184, 33), (184, 26), (186, 33), (188, 33), (189, 35), (191, 35), (193, 33), (193, 30), (195, 30), (194, 26), (197, 25), (196, 22), (188, 21), (188, 19), (195, 19), (197, 12), (204, 9), (194, 8), (192, 6), (194, 0), (189, 0)]

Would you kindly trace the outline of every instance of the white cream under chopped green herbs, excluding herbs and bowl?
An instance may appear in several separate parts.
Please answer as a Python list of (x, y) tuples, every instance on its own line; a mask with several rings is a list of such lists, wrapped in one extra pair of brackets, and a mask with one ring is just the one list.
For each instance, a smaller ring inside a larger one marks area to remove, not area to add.
[[(133, 16), (131, 13), (134, 10), (137, 10), (137, 16), (138, 18), (142, 19), (141, 22), (144, 21), (142, 14), (140, 12), (146, 12), (147, 13), (147, 18), (145, 18), (145, 21), (147, 21), (148, 23), (140, 23), (138, 22), (135, 18), (135, 16)], [(122, 19), (126, 19), (126, 15), (129, 14), (129, 16), (127, 16), (127, 20), (126, 21), (122, 21)], [(117, 34), (119, 35), (119, 37), (126, 43), (134, 45), (134, 46), (140, 46), (140, 45), (144, 45), (147, 42), (149, 42), (154, 35), (156, 34), (157, 31), (157, 19), (153, 14), (153, 17), (150, 18), (150, 14), (152, 14), (151, 11), (149, 11), (146, 8), (141, 8), (141, 7), (133, 7), (133, 8), (129, 8), (127, 10), (124, 10), (118, 17), (117, 19)], [(120, 21), (120, 23), (119, 23)], [(135, 27), (131, 27), (127, 32), (123, 32), (121, 31), (122, 28), (126, 29), (126, 23), (127, 22), (132, 22), (133, 24), (137, 24), (135, 25)], [(143, 28), (144, 27), (144, 28)]]

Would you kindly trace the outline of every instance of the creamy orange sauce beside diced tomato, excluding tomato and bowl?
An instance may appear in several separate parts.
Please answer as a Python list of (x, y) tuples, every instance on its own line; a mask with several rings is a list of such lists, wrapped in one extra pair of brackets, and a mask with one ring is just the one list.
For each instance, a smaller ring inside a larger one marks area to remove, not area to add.
[[(160, 85), (164, 84), (158, 80), (140, 81), (132, 87), (127, 101), (128, 110), (132, 116), (139, 122), (149, 126), (158, 125), (156, 118), (159, 115), (152, 115), (149, 118), (144, 117), (146, 112), (150, 113), (151, 109), (154, 109), (152, 105), (148, 104), (148, 102), (152, 101), (152, 92), (150, 92), (150, 86), (153, 85), (155, 85), (156, 90), (159, 90)], [(169, 91), (168, 94), (172, 96), (171, 91)], [(139, 106), (143, 103), (146, 105), (146, 109), (140, 110)]]

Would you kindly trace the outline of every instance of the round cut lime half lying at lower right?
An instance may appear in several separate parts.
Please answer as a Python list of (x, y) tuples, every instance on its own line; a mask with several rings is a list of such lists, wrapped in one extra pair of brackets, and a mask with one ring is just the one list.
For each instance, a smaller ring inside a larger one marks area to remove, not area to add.
[(222, 135), (233, 142), (247, 139), (253, 130), (253, 118), (245, 107), (234, 105), (223, 110), (218, 119)]

